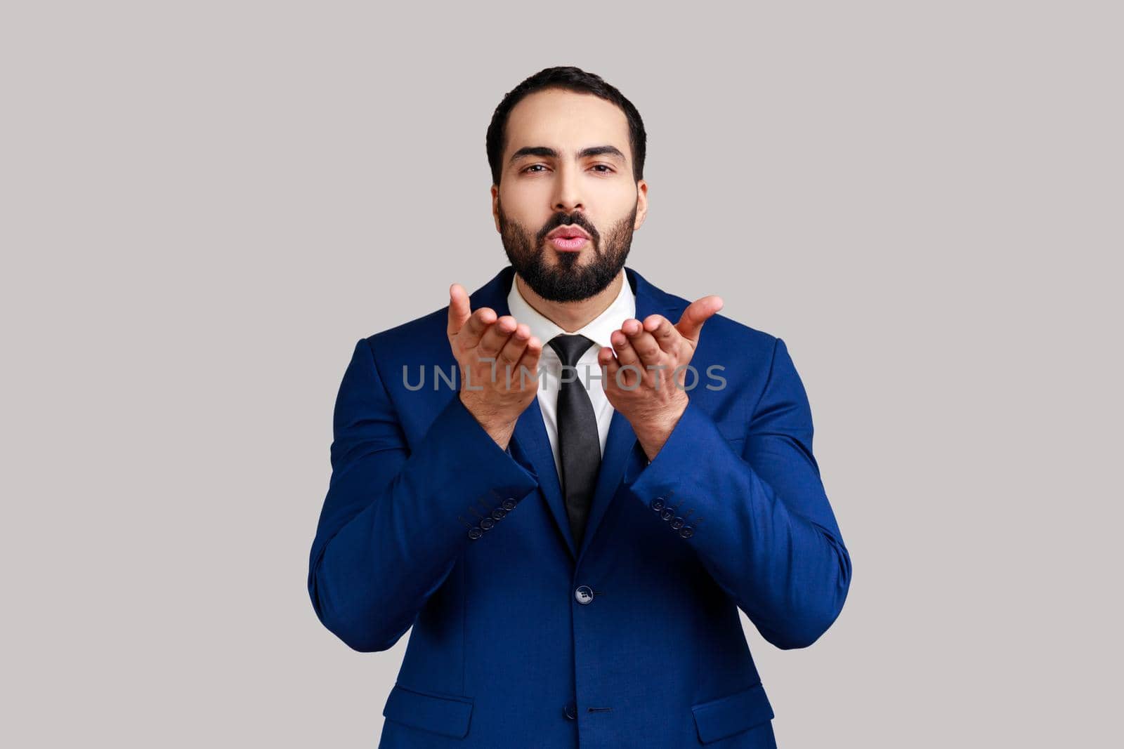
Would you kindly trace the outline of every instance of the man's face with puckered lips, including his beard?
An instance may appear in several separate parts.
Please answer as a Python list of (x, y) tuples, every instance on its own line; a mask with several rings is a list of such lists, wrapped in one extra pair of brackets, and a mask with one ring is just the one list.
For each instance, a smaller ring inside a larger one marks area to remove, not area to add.
[[(647, 185), (633, 180), (625, 113), (592, 94), (537, 91), (508, 116), (500, 166), (492, 214), (527, 285), (558, 302), (608, 286), (647, 211)], [(564, 238), (582, 230), (588, 239)]]

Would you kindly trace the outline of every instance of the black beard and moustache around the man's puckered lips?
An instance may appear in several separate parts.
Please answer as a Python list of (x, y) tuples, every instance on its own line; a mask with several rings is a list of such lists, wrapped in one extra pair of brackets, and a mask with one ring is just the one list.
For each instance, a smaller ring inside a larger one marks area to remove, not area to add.
[[(632, 248), (633, 223), (636, 221), (636, 207), (632, 213), (620, 219), (601, 237), (580, 214), (556, 213), (537, 235), (532, 235), (518, 221), (513, 221), (498, 207), (500, 238), (504, 250), (523, 281), (543, 299), (552, 302), (575, 302), (600, 293), (613, 283), (620, 273), (628, 250)], [(545, 262), (547, 252), (546, 235), (562, 225), (577, 225), (586, 229), (590, 236), (593, 257), (586, 265), (577, 266), (581, 253), (555, 253), (558, 265)]]

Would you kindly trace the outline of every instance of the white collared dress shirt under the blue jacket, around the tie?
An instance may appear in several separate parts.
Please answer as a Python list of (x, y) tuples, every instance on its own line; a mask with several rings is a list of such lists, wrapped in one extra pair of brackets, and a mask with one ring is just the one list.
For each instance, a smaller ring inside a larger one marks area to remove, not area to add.
[[(620, 275), (624, 276), (623, 268)], [(525, 323), (531, 328), (531, 335), (536, 336), (543, 344), (543, 353), (538, 357), (538, 366), (544, 373), (543, 382), (538, 386), (538, 408), (543, 412), (546, 436), (551, 440), (551, 450), (554, 453), (554, 466), (558, 468), (561, 479), (562, 458), (559, 454), (558, 400), (562, 380), (562, 360), (549, 345), (550, 340), (559, 335), (581, 335), (593, 341), (593, 345), (578, 359), (574, 368), (578, 378), (586, 387), (586, 392), (589, 393), (590, 402), (593, 404), (593, 413), (597, 415), (597, 431), (601, 441), (601, 456), (604, 456), (605, 441), (609, 436), (609, 423), (613, 420), (615, 409), (609, 404), (609, 399), (605, 396), (604, 381), (596, 378), (601, 373), (601, 366), (597, 363), (597, 353), (601, 346), (611, 348), (613, 341), (609, 336), (613, 331), (619, 330), (628, 318), (636, 317), (636, 295), (633, 293), (632, 286), (628, 285), (628, 278), (622, 277), (620, 293), (605, 308), (605, 311), (584, 327), (569, 334), (544, 317), (523, 298), (515, 277), (511, 278), (511, 291), (507, 295), (507, 307), (515, 321)], [(595, 376), (592, 384), (589, 380), (590, 374)]]

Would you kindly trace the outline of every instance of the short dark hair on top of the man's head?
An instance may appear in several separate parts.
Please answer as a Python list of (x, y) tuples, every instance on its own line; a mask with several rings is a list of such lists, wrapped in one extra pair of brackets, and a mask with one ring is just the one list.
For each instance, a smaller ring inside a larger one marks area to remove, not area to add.
[(488, 164), (492, 172), (492, 184), (499, 184), (500, 173), (504, 171), (500, 161), (504, 158), (508, 115), (526, 95), (544, 89), (565, 89), (578, 93), (591, 93), (619, 107), (628, 120), (628, 143), (633, 153), (633, 180), (644, 179), (644, 153), (647, 147), (647, 134), (644, 131), (644, 120), (641, 119), (640, 112), (636, 111), (631, 101), (625, 99), (624, 94), (601, 80), (600, 75), (566, 65), (538, 71), (508, 91), (504, 100), (499, 102), (499, 107), (492, 115), (492, 121), (488, 126), (488, 136), (484, 141), (488, 149)]

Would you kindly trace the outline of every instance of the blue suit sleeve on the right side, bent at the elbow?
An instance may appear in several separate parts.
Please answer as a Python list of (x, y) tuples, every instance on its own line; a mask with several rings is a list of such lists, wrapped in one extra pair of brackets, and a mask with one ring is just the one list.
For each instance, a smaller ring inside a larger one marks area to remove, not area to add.
[(685, 518), (678, 530), (669, 522), (669, 542), (690, 544), (761, 636), (783, 649), (827, 631), (851, 584), (812, 432), (807, 394), (778, 338), (742, 455), (691, 401), (629, 487), (644, 504)]

